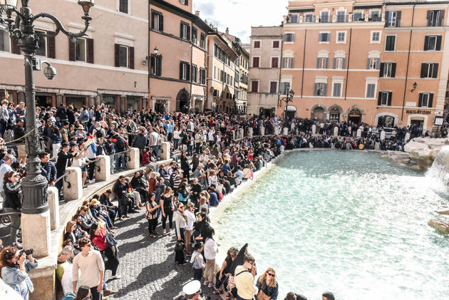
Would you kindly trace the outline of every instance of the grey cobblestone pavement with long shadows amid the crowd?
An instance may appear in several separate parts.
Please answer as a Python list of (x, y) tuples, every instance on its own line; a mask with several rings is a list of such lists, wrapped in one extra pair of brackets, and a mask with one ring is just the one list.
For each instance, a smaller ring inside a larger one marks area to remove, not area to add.
[[(154, 299), (171, 300), (179, 296), (182, 286), (192, 279), (192, 265), (177, 266), (175, 263), (175, 234), (152, 239), (148, 237), (148, 221), (144, 210), (130, 214), (130, 219), (116, 222), (120, 279), (110, 279), (106, 271), (108, 289), (117, 289), (118, 294), (109, 299)], [(175, 222), (173, 222), (175, 226)], [(167, 222), (168, 227), (168, 222)], [(162, 232), (158, 225), (157, 232)], [(174, 233), (174, 231), (173, 231)], [(206, 296), (220, 299), (202, 286)]]

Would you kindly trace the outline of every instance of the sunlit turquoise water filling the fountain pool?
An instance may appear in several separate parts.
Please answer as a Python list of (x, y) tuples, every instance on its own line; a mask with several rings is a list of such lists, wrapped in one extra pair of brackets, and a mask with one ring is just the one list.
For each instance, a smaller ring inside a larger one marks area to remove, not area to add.
[(291, 152), (215, 216), (220, 252), (248, 242), (280, 300), (448, 299), (449, 237), (427, 225), (448, 200), (433, 181), (375, 153)]

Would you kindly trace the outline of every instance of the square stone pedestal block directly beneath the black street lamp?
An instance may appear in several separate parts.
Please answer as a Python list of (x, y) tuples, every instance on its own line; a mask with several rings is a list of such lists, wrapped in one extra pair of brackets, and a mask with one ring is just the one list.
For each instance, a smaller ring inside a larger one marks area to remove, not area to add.
[(21, 225), (24, 249), (33, 248), (33, 257), (48, 257), (51, 248), (50, 210), (40, 214), (22, 213)]

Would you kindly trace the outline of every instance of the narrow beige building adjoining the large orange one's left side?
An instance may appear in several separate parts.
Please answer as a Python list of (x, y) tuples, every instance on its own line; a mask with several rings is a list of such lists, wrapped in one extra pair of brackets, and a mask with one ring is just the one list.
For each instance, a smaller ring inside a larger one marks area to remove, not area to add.
[(282, 63), (282, 26), (252, 27), (249, 46), (247, 113), (277, 113)]

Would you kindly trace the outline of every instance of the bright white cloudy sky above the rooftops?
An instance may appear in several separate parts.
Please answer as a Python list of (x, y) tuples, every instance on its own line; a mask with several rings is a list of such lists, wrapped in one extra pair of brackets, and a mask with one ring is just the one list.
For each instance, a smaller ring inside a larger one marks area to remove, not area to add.
[(287, 0), (194, 0), (193, 12), (224, 32), (249, 43), (251, 26), (279, 26), (287, 14)]

